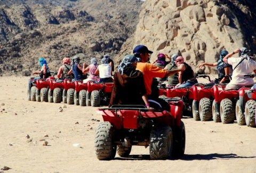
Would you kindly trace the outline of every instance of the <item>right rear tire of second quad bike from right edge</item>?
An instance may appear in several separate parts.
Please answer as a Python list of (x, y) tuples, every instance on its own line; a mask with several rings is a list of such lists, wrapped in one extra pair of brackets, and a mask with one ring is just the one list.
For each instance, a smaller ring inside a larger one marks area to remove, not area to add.
[(224, 98), (220, 102), (220, 118), (222, 123), (233, 123), (235, 120), (234, 106), (228, 98)]

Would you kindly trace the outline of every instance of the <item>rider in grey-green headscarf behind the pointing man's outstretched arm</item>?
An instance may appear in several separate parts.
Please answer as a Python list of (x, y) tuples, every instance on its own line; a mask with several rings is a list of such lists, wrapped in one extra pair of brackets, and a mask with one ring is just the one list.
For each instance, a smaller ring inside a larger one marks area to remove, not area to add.
[[(169, 58), (168, 55), (166, 55), (167, 58)], [(173, 54), (171, 57), (171, 61), (169, 64), (165, 66), (165, 70), (175, 70), (178, 69), (178, 66), (175, 64), (175, 60), (177, 59), (179, 55), (178, 54)], [(179, 84), (179, 75), (178, 73), (175, 73), (174, 75), (168, 76), (167, 77), (167, 85), (166, 86), (175, 86)]]

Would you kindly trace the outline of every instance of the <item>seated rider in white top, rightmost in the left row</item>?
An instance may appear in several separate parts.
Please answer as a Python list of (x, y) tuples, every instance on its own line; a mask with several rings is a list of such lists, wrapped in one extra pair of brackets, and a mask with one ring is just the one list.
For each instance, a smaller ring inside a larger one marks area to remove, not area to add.
[(113, 82), (113, 78), (111, 75), (111, 65), (108, 63), (108, 59), (103, 57), (101, 59), (101, 63), (98, 69), (95, 71), (95, 74), (99, 74), (100, 80), (99, 83), (108, 83)]

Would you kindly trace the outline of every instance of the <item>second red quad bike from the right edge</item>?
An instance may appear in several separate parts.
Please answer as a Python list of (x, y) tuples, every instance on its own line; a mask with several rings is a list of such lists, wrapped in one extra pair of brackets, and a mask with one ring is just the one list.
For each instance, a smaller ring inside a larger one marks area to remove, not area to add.
[(214, 100), (212, 116), (214, 122), (233, 123), (235, 120), (235, 104), (238, 100), (238, 89), (225, 90), (225, 84), (213, 86)]

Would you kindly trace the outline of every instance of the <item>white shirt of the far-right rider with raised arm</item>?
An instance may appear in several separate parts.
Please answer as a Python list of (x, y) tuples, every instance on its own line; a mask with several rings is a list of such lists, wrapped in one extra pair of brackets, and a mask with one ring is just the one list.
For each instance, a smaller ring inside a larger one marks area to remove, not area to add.
[[(229, 57), (227, 60), (228, 64), (232, 65), (233, 69), (236, 65), (242, 61), (244, 57)], [(229, 84), (233, 85), (253, 85), (254, 81), (252, 78), (245, 78), (244, 75), (250, 75), (253, 70), (256, 69), (256, 62), (252, 59), (244, 59), (236, 69), (233, 71), (232, 80)]]

